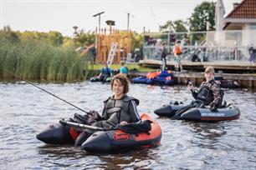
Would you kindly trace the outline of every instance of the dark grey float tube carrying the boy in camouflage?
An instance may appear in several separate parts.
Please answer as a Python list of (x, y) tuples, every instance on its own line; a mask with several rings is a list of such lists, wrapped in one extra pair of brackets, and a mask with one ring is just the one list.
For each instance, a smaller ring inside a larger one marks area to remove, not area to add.
[[(182, 102), (171, 102), (156, 109), (154, 112), (160, 117), (174, 117), (181, 109), (186, 109), (186, 106)], [(237, 119), (240, 116), (238, 107), (233, 104), (220, 107), (216, 111), (211, 111), (207, 107), (192, 107), (186, 110), (182, 112), (178, 119), (195, 122), (218, 122)]]

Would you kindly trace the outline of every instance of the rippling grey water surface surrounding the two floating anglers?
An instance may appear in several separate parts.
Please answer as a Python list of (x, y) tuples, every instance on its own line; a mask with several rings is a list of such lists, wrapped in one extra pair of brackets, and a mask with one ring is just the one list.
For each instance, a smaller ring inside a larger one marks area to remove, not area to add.
[[(92, 82), (37, 84), (84, 110), (101, 112), (110, 85)], [(24, 82), (0, 83), (0, 169), (255, 169), (256, 92), (228, 90), (224, 99), (241, 110), (237, 120), (217, 123), (173, 121), (153, 111), (171, 100), (189, 102), (185, 87), (131, 86), (162, 129), (161, 145), (125, 153), (86, 153), (73, 146), (50, 146), (36, 134), (60, 118), (73, 117), (74, 107)]]

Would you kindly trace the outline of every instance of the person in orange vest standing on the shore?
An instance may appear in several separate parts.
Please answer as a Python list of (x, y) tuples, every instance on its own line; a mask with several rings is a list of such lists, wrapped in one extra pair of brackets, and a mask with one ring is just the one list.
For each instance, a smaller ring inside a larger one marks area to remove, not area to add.
[(182, 72), (182, 47), (181, 47), (181, 41), (177, 40), (175, 46), (173, 47), (173, 54), (174, 54), (174, 67), (175, 71), (178, 72), (178, 69), (180, 68), (180, 71)]

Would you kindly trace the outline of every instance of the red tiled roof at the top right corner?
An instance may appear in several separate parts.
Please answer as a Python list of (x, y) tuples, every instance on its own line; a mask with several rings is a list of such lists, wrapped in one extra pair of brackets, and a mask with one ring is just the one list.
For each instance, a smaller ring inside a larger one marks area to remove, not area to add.
[(256, 18), (256, 0), (243, 0), (226, 18)]

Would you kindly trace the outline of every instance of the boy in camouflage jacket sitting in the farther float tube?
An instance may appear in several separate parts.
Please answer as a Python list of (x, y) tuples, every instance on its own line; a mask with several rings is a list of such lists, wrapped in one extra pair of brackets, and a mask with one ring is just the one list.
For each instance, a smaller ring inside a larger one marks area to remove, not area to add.
[(202, 82), (199, 90), (193, 87), (192, 83), (188, 85), (192, 96), (202, 101), (204, 105), (210, 106), (212, 111), (216, 111), (218, 107), (221, 107), (223, 101), (223, 91), (220, 89), (220, 82), (214, 80), (214, 73), (212, 66), (205, 69), (206, 82)]

